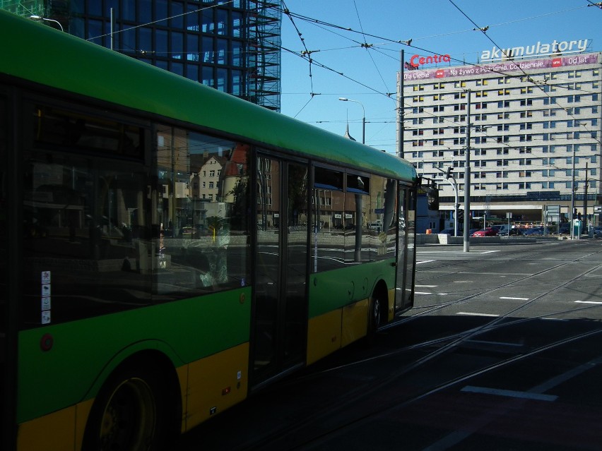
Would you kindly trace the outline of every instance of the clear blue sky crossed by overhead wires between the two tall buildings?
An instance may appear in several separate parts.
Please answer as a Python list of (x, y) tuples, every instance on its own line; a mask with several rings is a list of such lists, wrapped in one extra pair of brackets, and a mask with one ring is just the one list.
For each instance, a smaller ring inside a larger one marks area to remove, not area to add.
[[(394, 152), (394, 93), (401, 49), (406, 61), (413, 54), (449, 54), (452, 59), (466, 63), (476, 63), (481, 52), (494, 47), (493, 42), (507, 48), (538, 41), (589, 40), (588, 51), (600, 52), (602, 9), (587, 6), (590, 3), (586, 0), (285, 0), (291, 13), (305, 19), (293, 16), (291, 21), (283, 15), (282, 46), (295, 54), (285, 50), (282, 53), (281, 111), (341, 135), (348, 122), (350, 135), (361, 141), (363, 106), (366, 143)], [(489, 27), (486, 36), (473, 30), (475, 25), (471, 20), (480, 28)], [(409, 39), (414, 47), (396, 43)], [(311, 77), (307, 58), (298, 56), (306, 49), (312, 52), (314, 60)], [(388, 97), (387, 93), (393, 94)], [(338, 97), (361, 104), (341, 102)]]

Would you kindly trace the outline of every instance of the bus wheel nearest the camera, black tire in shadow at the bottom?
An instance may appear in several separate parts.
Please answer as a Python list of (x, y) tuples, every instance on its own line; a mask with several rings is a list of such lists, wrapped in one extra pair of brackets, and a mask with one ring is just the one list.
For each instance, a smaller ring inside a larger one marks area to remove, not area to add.
[(156, 368), (134, 362), (118, 368), (95, 399), (83, 451), (170, 450), (179, 433), (179, 417), (175, 390), (169, 386)]

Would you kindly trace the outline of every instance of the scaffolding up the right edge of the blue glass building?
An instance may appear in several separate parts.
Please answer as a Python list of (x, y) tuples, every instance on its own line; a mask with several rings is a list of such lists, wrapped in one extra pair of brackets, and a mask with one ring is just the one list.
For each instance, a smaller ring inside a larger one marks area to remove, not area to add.
[(247, 20), (247, 97), (280, 111), (281, 21), (280, 2), (249, 1)]

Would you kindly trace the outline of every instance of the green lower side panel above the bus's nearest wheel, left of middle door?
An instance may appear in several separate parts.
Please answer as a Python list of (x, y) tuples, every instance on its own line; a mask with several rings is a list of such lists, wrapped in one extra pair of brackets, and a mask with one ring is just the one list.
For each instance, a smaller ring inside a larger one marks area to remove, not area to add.
[(177, 368), (248, 342), (250, 314), (247, 287), (20, 332), (17, 422), (95, 397), (136, 351), (157, 349)]

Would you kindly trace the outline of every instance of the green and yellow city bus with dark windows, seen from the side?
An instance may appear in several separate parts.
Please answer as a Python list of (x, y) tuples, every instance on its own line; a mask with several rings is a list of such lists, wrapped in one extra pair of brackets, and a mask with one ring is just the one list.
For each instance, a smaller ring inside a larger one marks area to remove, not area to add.
[(0, 42), (2, 450), (163, 450), (411, 308), (408, 162), (3, 11)]

